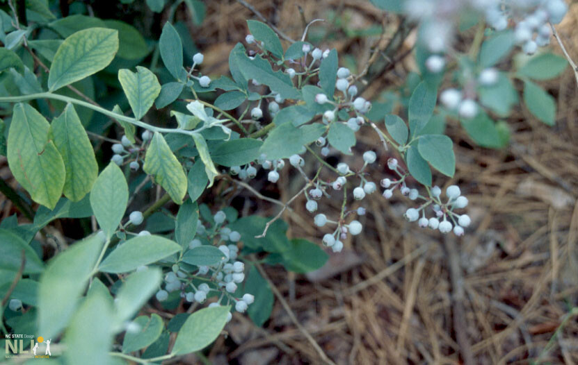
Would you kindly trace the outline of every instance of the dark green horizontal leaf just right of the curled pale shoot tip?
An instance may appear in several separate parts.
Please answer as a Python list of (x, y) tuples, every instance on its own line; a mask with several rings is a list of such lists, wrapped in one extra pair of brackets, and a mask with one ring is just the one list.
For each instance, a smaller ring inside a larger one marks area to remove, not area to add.
[(223, 142), (211, 153), (211, 158), (216, 164), (232, 167), (242, 166), (259, 158), (259, 148), (263, 142), (252, 138), (239, 138)]

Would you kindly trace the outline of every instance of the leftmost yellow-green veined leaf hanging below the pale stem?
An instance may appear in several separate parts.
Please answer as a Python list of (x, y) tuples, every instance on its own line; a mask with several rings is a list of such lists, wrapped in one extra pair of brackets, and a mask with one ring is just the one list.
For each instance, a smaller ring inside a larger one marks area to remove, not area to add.
[(50, 125), (28, 104), (16, 104), (8, 130), (10, 171), (32, 199), (50, 209), (56, 206), (65, 182), (63, 159), (49, 141)]

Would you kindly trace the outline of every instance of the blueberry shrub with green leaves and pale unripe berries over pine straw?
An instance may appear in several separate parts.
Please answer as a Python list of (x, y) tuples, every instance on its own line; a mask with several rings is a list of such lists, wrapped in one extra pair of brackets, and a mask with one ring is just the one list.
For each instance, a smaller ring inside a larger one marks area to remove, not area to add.
[[(262, 265), (319, 269), (362, 232), (369, 198), (405, 196), (415, 229), (467, 235), (468, 199), (446, 184), (456, 158), (445, 122), (459, 121), (483, 148), (508, 144), (504, 119), (522, 103), (553, 125), (556, 103), (536, 81), (568, 66), (544, 48), (568, 6), (371, 3), (403, 19), (399, 32), (417, 34), (417, 72), (380, 101), (364, 99), (362, 67), (340, 65), (335, 49), (310, 42), (308, 26), (291, 40), (248, 19), (230, 73), (216, 77), (202, 53), (186, 55), (172, 19), (179, 6), (202, 17), (202, 1), (147, 0), (154, 12), (169, 9), (157, 39), (81, 1), (67, 14), (58, 1), (0, 1), (0, 154), (18, 182), (2, 192), (30, 222), (0, 225), (1, 331), (54, 339), (53, 356), (70, 364), (161, 362), (209, 346), (232, 312), (263, 325), (273, 293)], [(467, 31), (475, 35), (464, 46)], [(509, 62), (513, 54), (522, 61)], [(360, 133), (380, 143), (360, 151)], [(396, 157), (370, 174), (385, 151)], [(342, 162), (353, 154), (362, 163)], [(231, 189), (264, 198), (252, 180), (284, 189), (289, 175), (298, 194), (275, 217), (214, 198)], [(139, 206), (143, 194), (156, 198)], [(298, 196), (316, 241), (287, 237), (282, 213)], [(341, 209), (321, 210), (328, 199)], [(56, 219), (79, 221), (85, 234), (43, 247), (35, 237)], [(170, 320), (147, 310), (179, 305), (188, 310)]]

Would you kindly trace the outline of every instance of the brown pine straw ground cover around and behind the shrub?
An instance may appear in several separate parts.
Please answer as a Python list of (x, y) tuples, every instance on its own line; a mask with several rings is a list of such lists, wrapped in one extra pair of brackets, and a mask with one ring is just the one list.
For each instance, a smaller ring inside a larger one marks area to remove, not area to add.
[[(385, 49), (398, 26), (394, 17), (384, 17), (366, 1), (248, 3), (294, 39), (303, 32), (303, 19), (328, 19), (331, 13), (347, 19), (351, 28), (384, 24), (381, 38), (344, 35), (322, 44), (337, 48), (342, 62), (348, 54), (348, 62), (353, 57), (362, 66), (376, 45)], [(259, 19), (252, 10), (241, 1), (208, 1), (203, 25), (189, 23), (205, 63), (212, 65), (205, 72), (227, 71), (230, 49), (247, 33), (245, 20)], [(335, 23), (323, 26), (343, 33)], [(558, 31), (578, 59), (578, 6)], [(414, 38), (410, 35), (394, 58), (407, 53)], [(552, 49), (560, 52), (555, 41)], [(372, 67), (380, 64), (385, 64), (383, 57)], [(374, 99), (384, 87), (401, 85), (412, 69), (410, 58), (383, 75), (370, 68), (363, 96)], [(344, 242), (344, 253), (332, 255), (328, 268), (310, 275), (312, 280), (280, 266), (266, 267), (275, 292), (271, 319), (255, 328), (247, 316), (235, 314), (209, 360), (243, 365), (578, 364), (578, 313), (571, 312), (578, 306), (578, 88), (570, 67), (545, 85), (558, 101), (556, 126), (541, 124), (517, 105), (507, 120), (512, 138), (504, 150), (475, 146), (457, 121), (449, 121), (456, 176), (436, 176), (435, 183), (456, 183), (469, 198), (472, 226), (465, 237), (444, 237), (407, 223), (402, 214), (409, 202), (397, 195), (390, 201), (379, 195), (366, 198), (362, 234)], [(370, 170), (379, 180), (387, 175), (392, 152), (378, 149), (374, 133), (364, 131), (358, 133), (358, 148), (379, 151)], [(345, 160), (362, 164), (360, 155)], [(316, 169), (313, 160), (308, 162)], [(1, 163), (0, 176), (15, 186), (6, 160)], [(289, 172), (282, 171), (279, 190), (264, 178), (252, 186), (288, 201), (302, 187), (300, 177), (291, 178)], [(15, 210), (0, 198), (0, 217), (8, 217)], [(246, 189), (230, 198), (246, 198), (246, 212), (274, 216), (280, 210)], [(341, 205), (337, 196), (323, 202), (332, 206), (320, 205), (322, 212), (336, 212)], [(283, 214), (289, 237), (320, 242), (325, 231), (313, 226), (305, 198), (297, 198), (293, 207), (294, 213)], [(179, 362), (197, 364), (199, 359)]]

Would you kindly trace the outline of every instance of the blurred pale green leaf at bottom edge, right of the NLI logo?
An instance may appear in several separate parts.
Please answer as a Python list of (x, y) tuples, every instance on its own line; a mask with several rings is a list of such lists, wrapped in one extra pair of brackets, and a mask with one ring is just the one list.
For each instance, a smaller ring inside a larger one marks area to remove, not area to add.
[[(110, 364), (112, 319), (112, 309), (105, 296), (99, 292), (88, 296), (66, 330), (64, 357), (67, 364)], [(44, 332), (42, 334), (50, 339)]]

